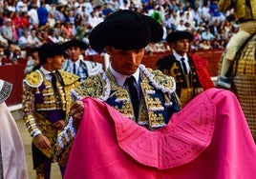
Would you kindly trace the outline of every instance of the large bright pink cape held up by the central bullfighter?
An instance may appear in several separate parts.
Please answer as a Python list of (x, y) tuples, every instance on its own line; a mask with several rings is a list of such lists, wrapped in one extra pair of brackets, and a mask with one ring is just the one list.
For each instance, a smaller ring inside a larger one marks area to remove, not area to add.
[(66, 179), (255, 178), (256, 149), (235, 95), (208, 89), (169, 124), (149, 131), (117, 110), (83, 99)]

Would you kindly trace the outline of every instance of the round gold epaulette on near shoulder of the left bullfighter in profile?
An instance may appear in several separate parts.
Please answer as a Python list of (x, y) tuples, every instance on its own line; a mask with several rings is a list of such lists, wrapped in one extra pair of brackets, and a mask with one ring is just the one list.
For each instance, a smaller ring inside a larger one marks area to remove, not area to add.
[(39, 70), (32, 71), (23, 80), (30, 87), (39, 87), (43, 82), (43, 75)]

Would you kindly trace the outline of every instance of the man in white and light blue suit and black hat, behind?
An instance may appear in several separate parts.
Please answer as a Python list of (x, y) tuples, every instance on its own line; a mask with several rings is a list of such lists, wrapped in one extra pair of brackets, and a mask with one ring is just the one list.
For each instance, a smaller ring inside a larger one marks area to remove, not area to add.
[(83, 81), (88, 76), (94, 75), (102, 70), (101, 64), (84, 60), (84, 50), (88, 49), (88, 45), (83, 41), (72, 39), (63, 45), (69, 56), (63, 64), (63, 70), (73, 72), (79, 76), (79, 81)]

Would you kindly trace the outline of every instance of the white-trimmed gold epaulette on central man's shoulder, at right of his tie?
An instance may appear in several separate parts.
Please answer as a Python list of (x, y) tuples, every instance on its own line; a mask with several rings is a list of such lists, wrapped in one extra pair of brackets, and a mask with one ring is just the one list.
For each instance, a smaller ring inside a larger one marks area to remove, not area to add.
[(153, 79), (160, 87), (168, 91), (176, 89), (176, 83), (173, 77), (166, 76), (160, 70), (148, 70), (153, 74)]

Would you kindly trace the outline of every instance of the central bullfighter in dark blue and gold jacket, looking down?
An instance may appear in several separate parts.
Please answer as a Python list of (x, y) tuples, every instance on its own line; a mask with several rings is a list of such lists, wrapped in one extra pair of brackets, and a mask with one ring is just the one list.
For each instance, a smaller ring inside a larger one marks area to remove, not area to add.
[[(116, 20), (119, 23), (115, 23)], [(174, 78), (162, 74), (160, 70), (139, 65), (145, 46), (149, 42), (159, 41), (162, 33), (157, 21), (135, 11), (119, 10), (107, 18), (90, 33), (90, 44), (93, 49), (105, 49), (110, 54), (110, 67), (105, 72), (89, 76), (73, 89), (75, 100), (85, 96), (94, 97), (146, 129), (165, 126), (172, 114), (181, 108), (175, 93)], [(126, 85), (127, 78), (131, 76), (139, 94), (138, 104), (133, 103), (132, 92)], [(63, 166), (67, 164), (76, 134), (72, 112), (71, 116), (54, 149), (57, 161)]]

